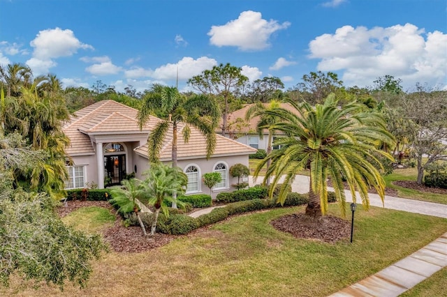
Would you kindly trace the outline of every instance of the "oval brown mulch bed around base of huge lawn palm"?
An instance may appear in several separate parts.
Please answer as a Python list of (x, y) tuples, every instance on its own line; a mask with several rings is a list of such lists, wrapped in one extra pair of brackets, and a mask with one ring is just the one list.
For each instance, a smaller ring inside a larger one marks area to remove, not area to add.
[(326, 215), (319, 220), (309, 218), (305, 213), (284, 215), (271, 222), (279, 231), (296, 238), (314, 239), (325, 243), (336, 243), (351, 236), (351, 223), (342, 218)]

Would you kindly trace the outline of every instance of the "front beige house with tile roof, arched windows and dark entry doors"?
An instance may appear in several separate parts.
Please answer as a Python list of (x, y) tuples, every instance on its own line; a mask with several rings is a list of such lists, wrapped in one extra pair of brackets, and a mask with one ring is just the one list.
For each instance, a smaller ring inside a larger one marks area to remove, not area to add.
[[(136, 178), (149, 168), (147, 160), (147, 137), (160, 119), (151, 116), (140, 130), (136, 116), (138, 110), (113, 100), (103, 100), (75, 112), (64, 124), (64, 132), (71, 144), (66, 148), (73, 162), (67, 163), (69, 179), (66, 188), (85, 188), (87, 183), (96, 183), (98, 188), (119, 185), (129, 174)], [(161, 161), (171, 161), (172, 131), (163, 143)], [(182, 126), (178, 129), (177, 165), (188, 176), (186, 194), (210, 190), (203, 184), (202, 175), (220, 172), (221, 183), (214, 186), (212, 197), (222, 191), (233, 190), (231, 166), (242, 163), (248, 167), (248, 155), (256, 149), (240, 144), (233, 139), (217, 135), (217, 146), (212, 157), (206, 159), (205, 137), (191, 127), (187, 144), (182, 138)]]

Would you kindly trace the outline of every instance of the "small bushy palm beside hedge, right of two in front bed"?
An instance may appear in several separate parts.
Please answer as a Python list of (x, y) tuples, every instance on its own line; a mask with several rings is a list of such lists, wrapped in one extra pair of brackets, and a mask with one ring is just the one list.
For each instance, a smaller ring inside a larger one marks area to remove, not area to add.
[(174, 202), (173, 195), (175, 193), (182, 194), (186, 190), (188, 177), (179, 167), (171, 167), (161, 162), (152, 163), (145, 175), (147, 178), (142, 183), (142, 188), (149, 197), (149, 204), (155, 207), (155, 218), (152, 222), (150, 234), (153, 236), (160, 211), (163, 210), (163, 213), (169, 217), (168, 206), (165, 202)]

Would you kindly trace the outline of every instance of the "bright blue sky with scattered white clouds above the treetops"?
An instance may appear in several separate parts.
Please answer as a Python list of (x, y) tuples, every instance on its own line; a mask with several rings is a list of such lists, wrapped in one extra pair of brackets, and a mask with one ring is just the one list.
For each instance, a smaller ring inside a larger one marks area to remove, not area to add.
[(64, 86), (175, 85), (219, 63), (286, 88), (311, 71), (346, 86), (393, 75), (447, 89), (445, 0), (0, 0), (0, 64)]

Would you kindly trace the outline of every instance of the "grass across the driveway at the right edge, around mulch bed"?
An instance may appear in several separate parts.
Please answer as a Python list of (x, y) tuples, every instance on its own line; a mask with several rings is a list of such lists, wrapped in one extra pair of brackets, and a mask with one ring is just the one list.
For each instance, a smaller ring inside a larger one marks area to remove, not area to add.
[(387, 188), (396, 189), (397, 192), (399, 193), (399, 197), (447, 204), (446, 195), (435, 194), (430, 192), (420, 192), (418, 190), (412, 190), (409, 188), (402, 188), (398, 185), (393, 185), (393, 181), (416, 181), (416, 176), (417, 176), (416, 168), (405, 168), (405, 169), (395, 169), (392, 174), (385, 176), (384, 179)]

